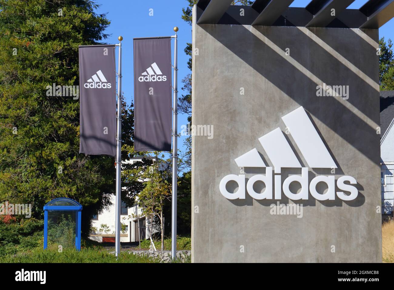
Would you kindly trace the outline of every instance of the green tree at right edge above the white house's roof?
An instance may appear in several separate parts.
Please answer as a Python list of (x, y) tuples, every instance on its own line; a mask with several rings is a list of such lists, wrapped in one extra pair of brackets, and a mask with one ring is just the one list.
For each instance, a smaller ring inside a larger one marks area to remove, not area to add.
[(391, 39), (388, 39), (387, 43), (385, 37), (379, 39), (379, 81), (381, 91), (394, 90), (394, 54), (392, 46)]

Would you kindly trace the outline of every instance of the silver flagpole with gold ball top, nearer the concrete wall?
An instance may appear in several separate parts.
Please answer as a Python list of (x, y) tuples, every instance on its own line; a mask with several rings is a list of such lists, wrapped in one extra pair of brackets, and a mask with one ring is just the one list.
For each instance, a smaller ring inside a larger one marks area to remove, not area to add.
[(178, 27), (174, 27), (175, 35), (171, 38), (175, 38), (174, 45), (174, 100), (173, 100), (173, 176), (172, 176), (172, 212), (171, 212), (171, 255), (172, 259), (177, 259), (177, 181), (178, 181), (178, 146), (177, 146), (177, 125), (178, 125)]

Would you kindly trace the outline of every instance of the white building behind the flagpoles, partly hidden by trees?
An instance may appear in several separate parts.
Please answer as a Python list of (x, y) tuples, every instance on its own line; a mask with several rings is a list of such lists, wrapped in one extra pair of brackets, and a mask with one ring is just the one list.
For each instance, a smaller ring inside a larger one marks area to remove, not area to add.
[[(134, 157), (127, 163), (141, 161), (141, 157)], [(156, 157), (152, 157), (157, 161)], [(95, 234), (89, 236), (90, 239), (99, 242), (115, 242), (115, 195), (111, 196), (110, 206), (105, 208), (98, 215), (93, 216), (92, 226), (96, 228)], [(121, 204), (121, 223), (126, 225), (126, 229), (121, 232), (121, 242), (134, 242), (140, 239), (149, 239), (151, 236), (150, 220), (142, 214), (141, 208), (136, 203), (128, 207), (124, 202)], [(160, 228), (153, 226), (152, 233), (160, 231)]]

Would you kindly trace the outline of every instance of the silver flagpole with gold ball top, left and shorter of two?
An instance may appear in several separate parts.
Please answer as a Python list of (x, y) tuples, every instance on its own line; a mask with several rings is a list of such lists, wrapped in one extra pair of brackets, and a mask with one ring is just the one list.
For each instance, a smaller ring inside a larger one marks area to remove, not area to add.
[(118, 64), (118, 112), (117, 112), (117, 135), (116, 135), (116, 201), (115, 201), (115, 256), (121, 252), (121, 147), (122, 147), (122, 36), (118, 37), (119, 44), (119, 64)]

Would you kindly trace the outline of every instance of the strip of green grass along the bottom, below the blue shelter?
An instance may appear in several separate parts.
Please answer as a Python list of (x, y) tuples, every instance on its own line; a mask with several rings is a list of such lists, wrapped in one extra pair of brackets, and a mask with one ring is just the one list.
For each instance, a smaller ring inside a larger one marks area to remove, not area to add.
[(26, 253), (0, 256), (0, 263), (159, 263), (160, 260), (147, 256), (120, 253), (118, 259), (114, 254), (100, 248), (75, 249), (34, 249)]

